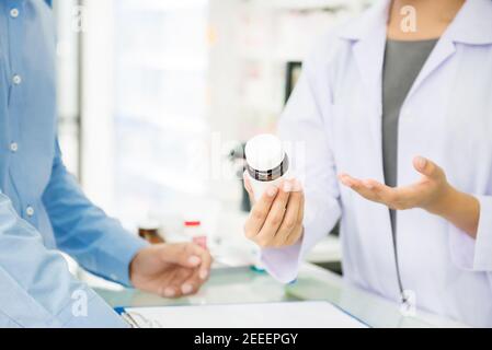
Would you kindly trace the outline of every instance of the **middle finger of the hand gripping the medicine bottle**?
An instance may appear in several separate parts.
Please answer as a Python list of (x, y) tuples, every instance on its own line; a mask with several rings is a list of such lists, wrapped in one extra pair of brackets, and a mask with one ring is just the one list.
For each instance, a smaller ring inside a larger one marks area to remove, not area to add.
[(267, 247), (273, 243), (273, 238), (277, 233), (278, 228), (281, 226), (287, 208), (287, 202), (290, 197), (290, 191), (293, 190), (293, 185), (290, 180), (285, 180), (282, 184), (281, 189), (278, 190), (278, 195), (272, 203), (272, 208), (268, 212), (268, 215), (260, 230), (258, 236), (255, 237), (255, 242), (262, 246)]

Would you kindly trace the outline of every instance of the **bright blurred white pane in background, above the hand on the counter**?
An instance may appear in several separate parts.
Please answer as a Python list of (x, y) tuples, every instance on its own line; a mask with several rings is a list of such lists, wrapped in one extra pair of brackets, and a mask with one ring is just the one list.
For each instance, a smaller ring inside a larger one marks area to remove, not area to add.
[(204, 0), (114, 0), (115, 206), (134, 221), (197, 196), (193, 144), (206, 130)]

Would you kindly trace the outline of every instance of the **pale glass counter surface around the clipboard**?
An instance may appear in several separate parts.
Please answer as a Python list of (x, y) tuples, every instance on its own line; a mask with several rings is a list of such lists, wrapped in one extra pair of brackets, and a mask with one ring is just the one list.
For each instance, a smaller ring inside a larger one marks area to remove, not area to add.
[(296, 282), (275, 281), (251, 268), (215, 268), (209, 281), (192, 296), (164, 299), (134, 289), (94, 289), (111, 306), (165, 306), (244, 304), (323, 300), (344, 310), (370, 327), (462, 327), (465, 325), (423, 311), (407, 315), (398, 303), (350, 285), (328, 270), (305, 264)]

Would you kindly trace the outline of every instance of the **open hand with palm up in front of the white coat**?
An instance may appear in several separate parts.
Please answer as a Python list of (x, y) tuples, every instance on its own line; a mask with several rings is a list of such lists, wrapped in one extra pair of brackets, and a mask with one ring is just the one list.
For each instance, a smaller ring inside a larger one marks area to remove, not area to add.
[(343, 185), (364, 198), (388, 206), (390, 209), (422, 208), (435, 214), (443, 214), (453, 194), (446, 174), (435, 163), (422, 156), (413, 160), (413, 167), (422, 174), (421, 179), (402, 187), (392, 188), (374, 179), (362, 180), (347, 174), (341, 174), (339, 178)]

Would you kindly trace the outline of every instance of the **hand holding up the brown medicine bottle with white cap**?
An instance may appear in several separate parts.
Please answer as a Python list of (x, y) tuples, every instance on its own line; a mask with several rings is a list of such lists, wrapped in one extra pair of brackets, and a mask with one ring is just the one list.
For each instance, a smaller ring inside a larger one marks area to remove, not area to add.
[(279, 187), (266, 189), (258, 202), (249, 178), (244, 176), (244, 187), (253, 208), (244, 224), (245, 236), (262, 248), (285, 247), (297, 243), (302, 236), (305, 195), (296, 179), (285, 180)]

